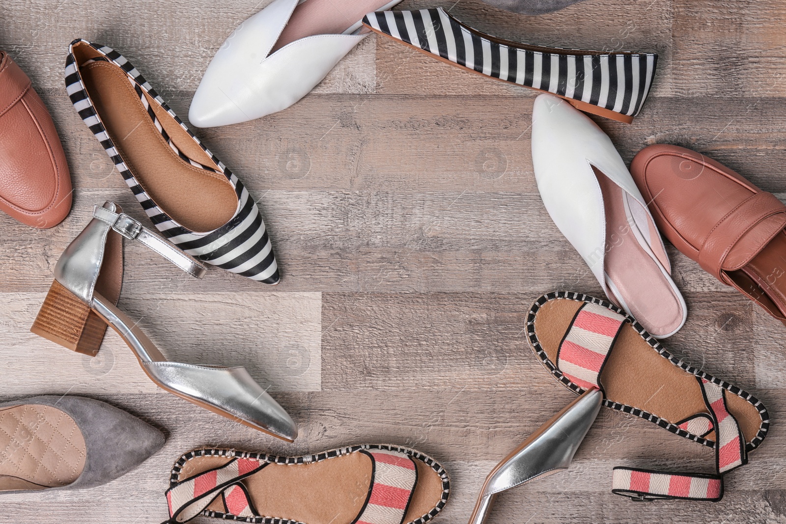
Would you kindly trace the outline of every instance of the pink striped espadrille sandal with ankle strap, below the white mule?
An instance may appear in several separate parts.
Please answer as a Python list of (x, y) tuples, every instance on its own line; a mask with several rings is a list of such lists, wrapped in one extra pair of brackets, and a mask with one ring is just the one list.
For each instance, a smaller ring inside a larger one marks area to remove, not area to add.
[(714, 475), (615, 467), (612, 493), (721, 500), (723, 475), (747, 464), (769, 429), (757, 398), (674, 357), (610, 302), (572, 291), (542, 295), (527, 315), (527, 341), (568, 389), (600, 388), (607, 408), (715, 450)]

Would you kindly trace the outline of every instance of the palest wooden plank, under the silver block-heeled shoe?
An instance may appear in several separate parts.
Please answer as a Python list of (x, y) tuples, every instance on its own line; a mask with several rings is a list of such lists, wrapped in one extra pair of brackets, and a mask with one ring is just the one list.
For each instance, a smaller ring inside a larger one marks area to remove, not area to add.
[[(46, 388), (72, 394), (156, 392), (123, 339), (108, 330), (97, 357), (75, 354), (29, 332), (45, 294), (2, 293), (7, 313), (0, 358), (28, 376), (0, 383), (2, 395)], [(320, 293), (148, 291), (119, 308), (170, 361), (244, 366), (271, 391), (321, 388)], [(51, 368), (57, 372), (41, 373)]]

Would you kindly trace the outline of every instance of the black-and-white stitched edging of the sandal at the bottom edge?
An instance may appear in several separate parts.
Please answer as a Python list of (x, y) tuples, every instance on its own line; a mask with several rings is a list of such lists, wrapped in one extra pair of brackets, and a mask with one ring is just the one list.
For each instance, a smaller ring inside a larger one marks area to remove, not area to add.
[[(409, 455), (413, 459), (420, 460), (422, 463), (426, 464), (428, 467), (431, 467), (432, 470), (435, 471), (439, 478), (442, 479), (443, 484), (443, 493), (440, 496), (439, 503), (432, 508), (431, 511), (428, 511), (425, 515), (407, 522), (407, 524), (425, 524), (434, 517), (439, 514), (439, 511), (442, 511), (445, 508), (445, 504), (447, 504), (447, 500), (450, 497), (450, 477), (447, 475), (447, 471), (445, 468), (442, 467), (439, 462), (432, 459), (432, 457), (425, 455), (417, 451), (416, 449), (404, 448), (398, 445), (392, 444), (359, 444), (359, 445), (352, 445), (346, 448), (339, 448), (339, 449), (331, 449), (329, 451), (324, 451), (321, 453), (316, 453), (314, 455), (303, 455), (303, 456), (276, 456), (276, 455), (266, 455), (265, 453), (252, 453), (248, 451), (236, 451), (234, 449), (219, 449), (219, 448), (204, 448), (204, 449), (194, 449), (189, 451), (188, 453), (184, 453), (180, 458), (175, 461), (174, 465), (172, 466), (171, 475), (169, 478), (169, 485), (170, 489), (173, 488), (175, 485), (178, 484), (178, 475), (180, 475), (180, 471), (182, 471), (183, 466), (189, 460), (193, 460), (199, 456), (227, 456), (227, 457), (237, 457), (242, 459), (252, 459), (252, 460), (259, 460), (260, 462), (267, 462), (272, 464), (310, 464), (314, 462), (321, 462), (322, 460), (331, 459), (336, 456), (343, 456), (348, 455), (350, 453), (354, 453), (360, 450), (368, 450), (368, 449), (381, 449), (386, 451), (393, 451), (396, 453), (405, 453)], [(295, 520), (289, 519), (281, 519), (277, 517), (239, 517), (237, 515), (232, 515), (230, 513), (222, 513), (221, 511), (210, 511), (208, 509), (202, 511), (202, 515), (208, 517), (215, 517), (218, 519), (226, 519), (226, 520), (234, 520), (239, 522), (249, 522), (250, 524), (303, 524), (303, 522), (298, 522)]]

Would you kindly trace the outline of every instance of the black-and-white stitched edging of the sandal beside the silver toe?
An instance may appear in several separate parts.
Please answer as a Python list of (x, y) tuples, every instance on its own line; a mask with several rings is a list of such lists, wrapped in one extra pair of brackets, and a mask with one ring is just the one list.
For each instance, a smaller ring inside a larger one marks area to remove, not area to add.
[[(672, 364), (676, 365), (678, 368), (689, 372), (691, 375), (694, 375), (700, 379), (706, 379), (707, 381), (717, 384), (718, 386), (722, 387), (723, 389), (730, 391), (733, 394), (736, 394), (738, 397), (743, 398), (744, 400), (748, 401), (753, 407), (758, 411), (758, 416), (762, 419), (762, 424), (758, 428), (758, 432), (754, 438), (751, 439), (751, 442), (747, 442), (745, 445), (745, 450), (747, 452), (751, 452), (752, 450), (758, 448), (761, 445), (762, 441), (766, 437), (767, 431), (769, 431), (769, 413), (767, 409), (762, 404), (762, 401), (759, 401), (758, 398), (755, 398), (753, 395), (748, 393), (745, 390), (741, 390), (739, 387), (733, 386), (732, 384), (726, 382), (725, 380), (715, 378), (711, 376), (709, 373), (705, 373), (698, 368), (689, 365), (686, 362), (681, 361), (674, 355), (670, 354), (666, 348), (664, 348), (652, 335), (650, 335), (641, 324), (639, 324), (634, 317), (628, 315), (624, 310), (615, 306), (611, 302), (606, 302), (605, 300), (596, 299), (595, 297), (584, 295), (583, 293), (578, 293), (576, 291), (552, 291), (550, 293), (546, 293), (538, 297), (532, 304), (532, 307), (527, 313), (527, 342), (530, 344), (532, 350), (538, 358), (540, 358), (542, 365), (554, 376), (557, 380), (560, 381), (567, 387), (567, 389), (573, 391), (576, 394), (582, 394), (584, 390), (582, 387), (579, 387), (578, 384), (572, 383), (570, 379), (567, 379), (566, 376), (560, 372), (559, 369), (553, 364), (553, 362), (549, 359), (549, 356), (545, 354), (540, 342), (538, 342), (538, 337), (535, 335), (534, 329), (534, 318), (535, 314), (538, 313), (538, 310), (549, 300), (553, 299), (567, 299), (567, 300), (575, 300), (576, 302), (590, 302), (593, 304), (597, 304), (599, 306), (604, 306), (608, 310), (612, 310), (615, 313), (619, 313), (626, 317), (627, 320), (630, 321), (630, 324), (636, 330), (636, 332), (641, 335), (643, 339), (645, 339), (646, 343), (649, 344), (652, 349), (656, 350), (661, 357), (667, 358)], [(663, 429), (670, 431), (680, 437), (687, 438), (694, 442), (698, 442), (699, 444), (706, 445), (708, 448), (714, 449), (715, 443), (714, 441), (708, 440), (707, 438), (702, 438), (699, 435), (695, 435), (689, 433), (688, 431), (683, 430), (681, 427), (678, 427), (676, 424), (670, 423), (668, 420), (663, 420), (659, 416), (653, 415), (652, 413), (645, 412), (641, 409), (634, 408), (630, 405), (619, 404), (617, 402), (612, 402), (608, 400), (608, 398), (603, 399), (603, 405), (607, 408), (615, 409), (617, 411), (622, 411), (626, 413), (630, 413), (631, 415), (638, 416), (644, 420), (649, 420), (652, 423), (656, 423), (659, 427), (663, 427)]]

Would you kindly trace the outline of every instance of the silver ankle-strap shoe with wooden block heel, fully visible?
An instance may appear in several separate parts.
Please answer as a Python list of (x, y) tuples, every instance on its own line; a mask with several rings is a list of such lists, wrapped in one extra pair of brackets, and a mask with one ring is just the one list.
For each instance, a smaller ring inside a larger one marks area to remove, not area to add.
[(228, 419), (294, 441), (295, 423), (245, 368), (167, 361), (137, 322), (117, 308), (123, 238), (137, 240), (193, 277), (204, 275), (205, 267), (195, 258), (142, 227), (116, 203), (106, 202), (95, 207), (93, 220), (57, 261), (54, 282), (31, 332), (94, 357), (110, 326), (157, 386)]

